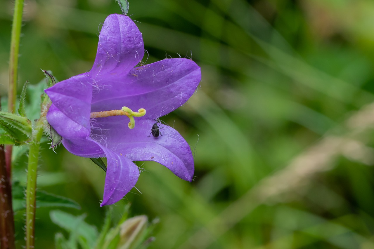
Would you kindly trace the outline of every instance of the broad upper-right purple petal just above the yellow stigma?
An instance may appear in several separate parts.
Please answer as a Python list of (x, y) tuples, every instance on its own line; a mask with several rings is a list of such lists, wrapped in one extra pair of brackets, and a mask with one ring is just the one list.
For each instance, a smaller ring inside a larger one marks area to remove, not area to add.
[[(112, 76), (111, 78), (118, 77)], [(127, 106), (147, 110), (142, 119), (156, 119), (174, 111), (192, 96), (200, 82), (200, 67), (184, 59), (164, 59), (134, 68), (120, 81), (111, 81), (92, 98), (92, 111)]]

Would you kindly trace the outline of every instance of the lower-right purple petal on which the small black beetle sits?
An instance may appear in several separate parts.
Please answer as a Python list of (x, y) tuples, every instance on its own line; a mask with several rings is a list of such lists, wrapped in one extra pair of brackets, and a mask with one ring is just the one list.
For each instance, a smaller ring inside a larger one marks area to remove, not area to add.
[[(190, 146), (172, 127), (161, 125), (162, 136), (150, 136), (152, 120), (137, 120), (134, 129), (123, 129), (122, 117), (110, 117), (101, 124), (107, 127), (102, 135), (109, 148), (126, 155), (132, 161), (155, 161), (186, 181), (192, 181), (194, 163)], [(123, 134), (116, 136), (116, 134)]]

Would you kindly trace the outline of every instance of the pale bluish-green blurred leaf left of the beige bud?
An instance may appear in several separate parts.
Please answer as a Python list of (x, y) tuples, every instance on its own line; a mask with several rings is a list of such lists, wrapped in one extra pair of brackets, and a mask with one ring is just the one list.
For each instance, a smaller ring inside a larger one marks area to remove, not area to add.
[(74, 216), (60, 210), (52, 210), (49, 215), (53, 223), (70, 232), (71, 239), (79, 242), (82, 248), (93, 248), (98, 232), (95, 226), (84, 221), (86, 215)]

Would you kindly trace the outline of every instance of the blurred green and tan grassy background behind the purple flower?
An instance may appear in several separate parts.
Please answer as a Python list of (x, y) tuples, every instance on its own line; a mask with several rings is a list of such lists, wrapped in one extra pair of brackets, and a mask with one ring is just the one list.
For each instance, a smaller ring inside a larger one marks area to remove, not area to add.
[[(130, 0), (149, 64), (190, 57), (202, 82), (162, 120), (193, 148), (184, 182), (153, 162), (118, 217), (159, 218), (150, 248), (374, 248), (374, 1)], [(0, 1), (0, 92), (6, 95), (12, 1)], [(27, 0), (19, 90), (92, 67), (110, 0)], [(40, 156), (39, 190), (78, 202), (99, 228), (104, 172), (61, 146)], [(14, 178), (25, 182), (26, 156)], [(62, 231), (37, 210), (36, 248)], [(24, 245), (24, 216), (15, 216)], [(66, 235), (66, 234), (65, 234)]]

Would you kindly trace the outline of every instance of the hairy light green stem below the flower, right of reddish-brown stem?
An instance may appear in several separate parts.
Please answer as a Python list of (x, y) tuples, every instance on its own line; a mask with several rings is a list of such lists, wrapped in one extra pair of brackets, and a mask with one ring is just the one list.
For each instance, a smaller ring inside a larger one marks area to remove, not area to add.
[(26, 187), (26, 248), (34, 248), (35, 242), (35, 211), (36, 211), (36, 178), (38, 171), (38, 159), (40, 139), (43, 135), (42, 122), (37, 122), (34, 130), (33, 141), (30, 143), (27, 167)]

